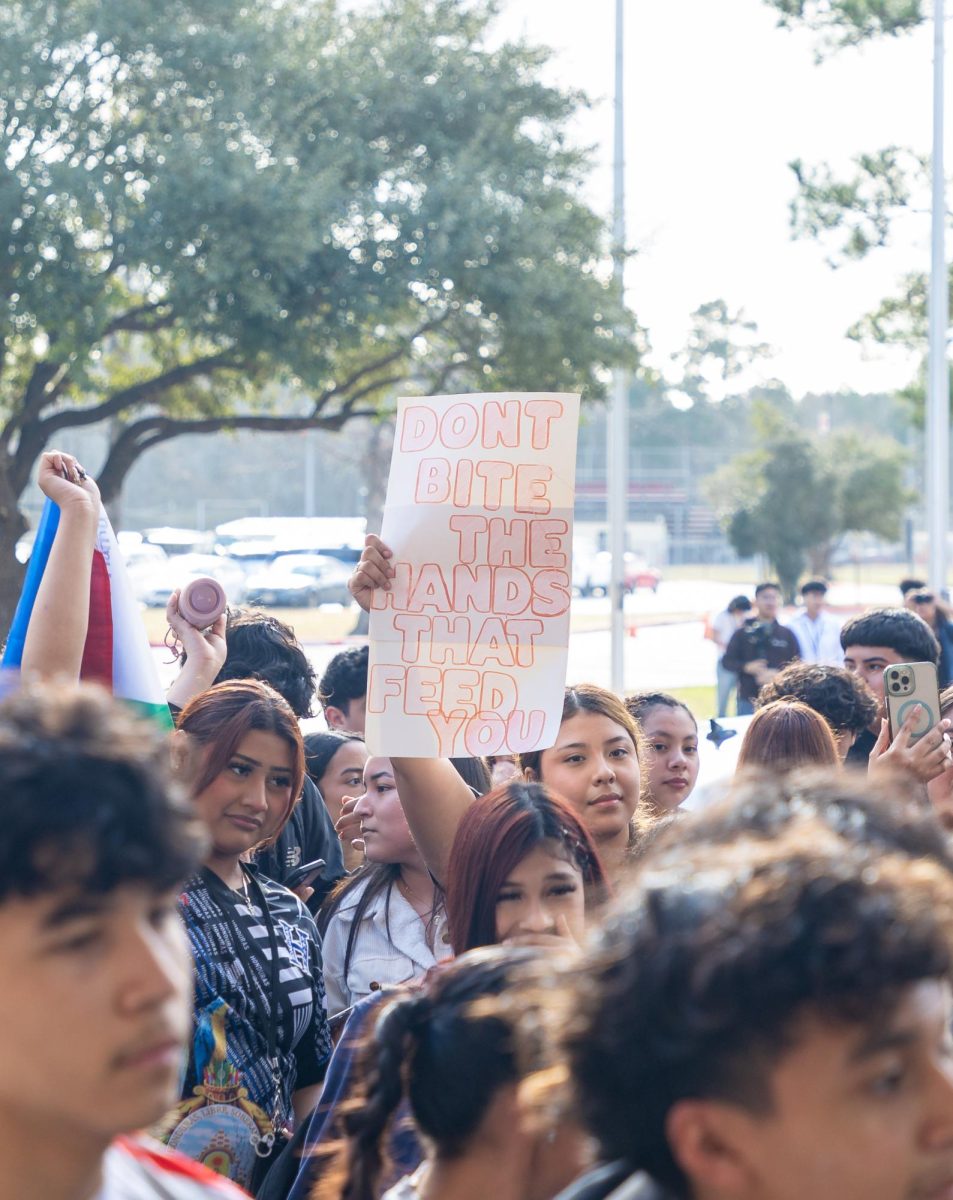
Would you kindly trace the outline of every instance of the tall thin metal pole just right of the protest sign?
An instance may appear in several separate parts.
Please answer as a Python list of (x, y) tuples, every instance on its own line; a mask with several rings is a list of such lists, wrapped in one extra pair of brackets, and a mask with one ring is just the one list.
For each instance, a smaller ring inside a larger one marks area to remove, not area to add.
[[(623, 0), (616, 0), (616, 100), (615, 100), (615, 161), (612, 188), (612, 242), (615, 268), (613, 274), (621, 295), (625, 295), (625, 154), (624, 154), (624, 108), (623, 108)], [(606, 461), (609, 466), (607, 492), (609, 502), (609, 548), (612, 556), (610, 576), (611, 605), (611, 680), (612, 691), (623, 695), (625, 691), (625, 523), (629, 517), (629, 412), (628, 380), (622, 367), (617, 367), (612, 378), (612, 402), (607, 421), (609, 444)]]

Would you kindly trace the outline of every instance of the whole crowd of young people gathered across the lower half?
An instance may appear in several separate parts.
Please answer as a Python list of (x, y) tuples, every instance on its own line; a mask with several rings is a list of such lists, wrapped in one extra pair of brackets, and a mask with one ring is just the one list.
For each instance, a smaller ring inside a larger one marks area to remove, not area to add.
[[(95, 481), (53, 451), (40, 486), (0, 704), (0, 1194), (953, 1196), (953, 689), (925, 732), (883, 696), (942, 671), (922, 582), (843, 628), (816, 581), (789, 626), (772, 582), (732, 600), (719, 695), (753, 718), (688, 812), (671, 695), (573, 682), (552, 746), (380, 757), (366, 647), (317, 679), (274, 617), (200, 630), (176, 593), (175, 731), (134, 719), (77, 683)], [(362, 607), (390, 558), (368, 536)]]

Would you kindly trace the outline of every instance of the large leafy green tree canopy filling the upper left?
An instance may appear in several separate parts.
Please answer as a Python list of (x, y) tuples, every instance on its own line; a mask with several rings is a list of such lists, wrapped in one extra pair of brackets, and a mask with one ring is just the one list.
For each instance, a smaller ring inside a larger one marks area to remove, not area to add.
[(635, 361), (582, 97), (492, 17), (0, 0), (6, 562), (71, 428), (113, 422), (108, 498), (180, 433), (335, 428), (397, 388), (598, 394)]

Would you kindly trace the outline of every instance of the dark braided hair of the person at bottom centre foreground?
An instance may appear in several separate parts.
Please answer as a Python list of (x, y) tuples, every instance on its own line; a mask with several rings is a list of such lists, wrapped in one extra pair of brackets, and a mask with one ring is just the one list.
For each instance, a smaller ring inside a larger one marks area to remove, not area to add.
[(466, 1150), (495, 1096), (521, 1075), (511, 1019), (480, 1001), (511, 988), (533, 956), (528, 949), (484, 948), (384, 1006), (364, 1048), (364, 1103), (344, 1117), (341, 1200), (377, 1195), (385, 1130), (404, 1097), (438, 1158)]

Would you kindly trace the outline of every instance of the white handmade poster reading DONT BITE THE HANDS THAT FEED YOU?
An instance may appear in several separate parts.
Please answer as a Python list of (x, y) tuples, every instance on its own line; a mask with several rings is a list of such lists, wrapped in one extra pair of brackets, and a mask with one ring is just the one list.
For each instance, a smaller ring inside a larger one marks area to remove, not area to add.
[(556, 742), (573, 576), (579, 396), (401, 400), (374, 594), (372, 754), (519, 754)]

